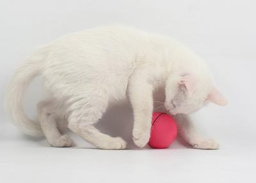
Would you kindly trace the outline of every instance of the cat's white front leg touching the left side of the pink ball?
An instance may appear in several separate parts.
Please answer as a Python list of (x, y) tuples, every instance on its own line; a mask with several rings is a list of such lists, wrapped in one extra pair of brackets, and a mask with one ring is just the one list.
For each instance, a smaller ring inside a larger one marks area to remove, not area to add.
[(138, 73), (129, 79), (128, 92), (134, 115), (133, 141), (138, 147), (144, 147), (150, 138), (153, 88), (147, 77)]

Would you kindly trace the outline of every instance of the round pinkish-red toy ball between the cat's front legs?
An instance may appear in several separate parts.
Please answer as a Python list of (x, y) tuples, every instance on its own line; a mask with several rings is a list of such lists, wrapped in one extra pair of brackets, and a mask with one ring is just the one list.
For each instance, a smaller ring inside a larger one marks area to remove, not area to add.
[(177, 137), (177, 126), (172, 116), (153, 113), (151, 135), (148, 144), (152, 148), (168, 148)]

